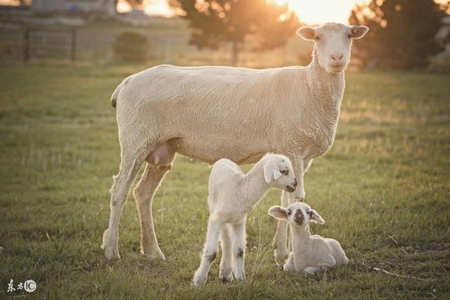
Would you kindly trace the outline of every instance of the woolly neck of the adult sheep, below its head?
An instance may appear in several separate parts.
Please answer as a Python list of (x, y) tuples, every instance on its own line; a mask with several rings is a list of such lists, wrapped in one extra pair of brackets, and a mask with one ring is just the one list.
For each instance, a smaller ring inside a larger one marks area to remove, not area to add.
[(307, 66), (308, 86), (314, 98), (323, 106), (339, 108), (344, 95), (344, 72), (330, 73), (319, 64), (316, 46), (313, 49), (311, 63)]

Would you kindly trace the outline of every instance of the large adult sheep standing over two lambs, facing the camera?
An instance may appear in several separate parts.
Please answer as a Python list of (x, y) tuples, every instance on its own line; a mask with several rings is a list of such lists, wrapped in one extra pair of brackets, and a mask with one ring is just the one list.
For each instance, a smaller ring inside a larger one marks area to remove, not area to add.
[[(141, 251), (150, 259), (165, 259), (153, 229), (151, 202), (176, 152), (210, 164), (223, 157), (248, 164), (266, 152), (286, 155), (298, 186), (292, 194), (283, 191), (281, 204), (304, 200), (304, 171), (335, 138), (352, 39), (367, 30), (338, 23), (301, 28), (300, 37), (314, 40), (307, 67), (160, 65), (124, 79), (111, 98), (113, 107), (117, 105), (121, 162), (113, 177), (110, 223), (103, 234), (106, 258), (120, 259), (120, 214), (144, 161), (146, 169), (134, 196)], [(287, 223), (279, 221), (274, 240), (278, 258), (288, 254), (286, 235)]]

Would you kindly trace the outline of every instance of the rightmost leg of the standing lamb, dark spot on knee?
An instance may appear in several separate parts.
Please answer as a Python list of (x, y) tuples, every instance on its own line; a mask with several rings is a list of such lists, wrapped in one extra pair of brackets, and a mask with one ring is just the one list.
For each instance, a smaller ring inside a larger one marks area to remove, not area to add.
[(245, 219), (233, 224), (233, 275), (236, 280), (245, 280)]

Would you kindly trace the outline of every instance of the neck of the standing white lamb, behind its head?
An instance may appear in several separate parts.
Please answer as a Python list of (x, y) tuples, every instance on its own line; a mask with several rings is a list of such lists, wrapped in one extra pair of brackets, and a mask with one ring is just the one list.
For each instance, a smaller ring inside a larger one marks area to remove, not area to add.
[(260, 161), (243, 177), (243, 190), (248, 195), (245, 206), (249, 211), (264, 197), (269, 188), (269, 183), (264, 180), (263, 164)]

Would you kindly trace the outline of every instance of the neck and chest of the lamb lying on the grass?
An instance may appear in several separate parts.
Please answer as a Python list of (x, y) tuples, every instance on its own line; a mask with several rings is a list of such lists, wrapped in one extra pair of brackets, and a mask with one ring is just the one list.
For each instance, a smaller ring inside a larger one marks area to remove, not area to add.
[(307, 266), (303, 266), (304, 261), (309, 261), (309, 252), (311, 251), (311, 233), (309, 225), (306, 226), (290, 226), (292, 231), (293, 255), (296, 270), (303, 270)]

